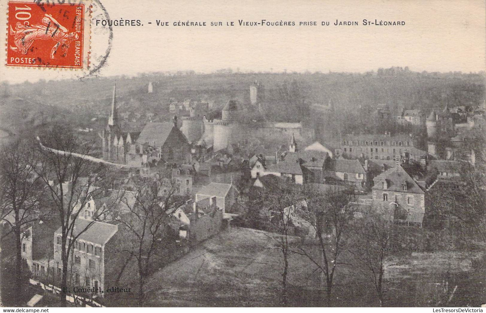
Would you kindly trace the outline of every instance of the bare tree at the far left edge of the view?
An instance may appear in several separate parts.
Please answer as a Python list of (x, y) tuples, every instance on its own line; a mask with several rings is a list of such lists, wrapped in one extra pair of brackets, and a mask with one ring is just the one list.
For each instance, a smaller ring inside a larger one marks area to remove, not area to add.
[[(3, 145), (0, 151), (1, 219), (10, 226), (2, 239), (13, 234), (15, 237), (16, 301), (21, 300), (22, 257), (21, 240), (23, 228), (39, 218), (38, 196), (41, 188), (34, 170), (29, 166), (35, 161), (35, 154), (20, 141)], [(45, 212), (44, 212), (45, 213)]]

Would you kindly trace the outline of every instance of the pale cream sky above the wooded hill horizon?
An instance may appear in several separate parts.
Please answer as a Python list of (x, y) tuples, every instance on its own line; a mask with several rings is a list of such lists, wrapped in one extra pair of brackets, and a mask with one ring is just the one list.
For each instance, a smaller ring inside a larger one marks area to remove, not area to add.
[[(1, 10), (6, 1), (0, 0)], [(486, 70), (485, 0), (99, 1), (111, 19), (143, 23), (113, 27), (110, 54), (97, 73), (100, 76), (177, 70), (210, 73), (228, 67), (243, 72), (365, 72), (391, 66), (419, 72)], [(5, 19), (0, 15), (0, 23)], [(157, 19), (170, 26), (157, 26)], [(293, 21), (296, 26), (239, 26), (238, 22), (262, 19)], [(336, 19), (359, 25), (335, 26)], [(364, 26), (363, 19), (404, 21), (405, 25)], [(208, 26), (173, 26), (178, 21), (206, 21)], [(226, 26), (230, 21), (235, 26)], [(315, 21), (317, 26), (299, 26), (300, 21)], [(330, 26), (322, 26), (322, 21)], [(224, 26), (210, 26), (210, 22)], [(91, 51), (96, 63), (106, 51), (108, 31), (94, 23)], [(72, 70), (4, 67), (0, 80), (17, 83), (83, 76)]]

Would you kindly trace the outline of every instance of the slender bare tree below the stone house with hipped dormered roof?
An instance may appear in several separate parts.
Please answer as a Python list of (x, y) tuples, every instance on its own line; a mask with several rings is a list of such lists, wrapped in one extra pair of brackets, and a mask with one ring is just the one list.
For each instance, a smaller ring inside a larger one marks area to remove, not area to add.
[[(369, 274), (375, 287), (380, 306), (383, 306), (383, 274), (385, 261), (392, 253), (394, 232), (393, 214), (379, 207), (370, 206), (362, 219), (355, 223), (355, 242), (352, 254)], [(366, 275), (368, 276), (368, 275)]]

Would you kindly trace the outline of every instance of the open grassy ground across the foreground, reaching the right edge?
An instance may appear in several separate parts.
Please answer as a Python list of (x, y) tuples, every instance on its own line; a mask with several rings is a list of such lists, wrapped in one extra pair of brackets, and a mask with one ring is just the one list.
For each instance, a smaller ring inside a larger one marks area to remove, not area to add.
[[(263, 231), (231, 227), (210, 238), (150, 278), (146, 305), (281, 305), (282, 258), (272, 236)], [(292, 240), (296, 243), (299, 239)], [(478, 306), (486, 295), (482, 255), (477, 252), (411, 253), (388, 260), (385, 305)], [(352, 260), (344, 256), (343, 262), (350, 265), (342, 265), (336, 274), (333, 305), (377, 306), (371, 281), (357, 270)], [(305, 257), (291, 255), (288, 282), (289, 305), (324, 305), (319, 273)]]

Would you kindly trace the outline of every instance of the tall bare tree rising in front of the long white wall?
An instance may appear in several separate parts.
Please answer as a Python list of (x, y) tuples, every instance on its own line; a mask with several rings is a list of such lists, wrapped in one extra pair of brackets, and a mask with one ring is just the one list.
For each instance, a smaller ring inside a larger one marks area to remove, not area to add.
[(105, 178), (110, 169), (102, 163), (91, 161), (93, 144), (82, 142), (69, 127), (55, 125), (40, 140), (39, 159), (31, 166), (44, 183), (46, 206), (61, 228), (60, 299), (64, 303), (68, 289), (69, 257), (72, 258), (74, 245), (97, 219), (105, 216), (109, 206), (96, 212), (93, 220), (83, 229), (75, 230), (76, 221), (87, 201), (104, 197), (103, 191), (108, 186)]

